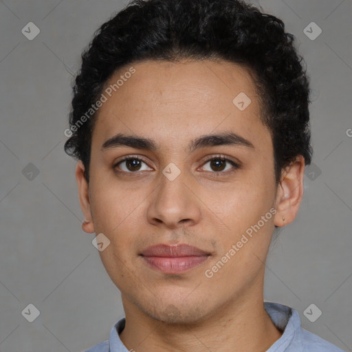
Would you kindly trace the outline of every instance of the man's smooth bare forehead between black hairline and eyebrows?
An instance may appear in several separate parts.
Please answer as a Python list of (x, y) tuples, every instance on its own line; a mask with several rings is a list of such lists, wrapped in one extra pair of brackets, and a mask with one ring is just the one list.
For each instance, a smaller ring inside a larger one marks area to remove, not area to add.
[(115, 72), (102, 92), (93, 138), (100, 142), (120, 132), (180, 144), (214, 131), (255, 138), (265, 129), (249, 69), (228, 61), (142, 61)]

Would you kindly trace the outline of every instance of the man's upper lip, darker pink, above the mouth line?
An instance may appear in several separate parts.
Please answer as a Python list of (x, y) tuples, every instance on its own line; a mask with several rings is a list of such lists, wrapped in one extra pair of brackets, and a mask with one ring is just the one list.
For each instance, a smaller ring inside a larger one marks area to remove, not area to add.
[(181, 257), (181, 256), (208, 256), (210, 253), (200, 250), (197, 247), (186, 243), (177, 245), (158, 244), (146, 248), (142, 256), (162, 256), (162, 257)]

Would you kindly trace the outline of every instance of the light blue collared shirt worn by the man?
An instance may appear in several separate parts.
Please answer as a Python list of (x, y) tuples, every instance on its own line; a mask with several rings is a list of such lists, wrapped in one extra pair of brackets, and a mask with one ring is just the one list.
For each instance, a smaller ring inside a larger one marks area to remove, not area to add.
[[(274, 325), (283, 335), (266, 352), (345, 352), (300, 326), (297, 311), (278, 303), (265, 302), (264, 308)], [(119, 333), (124, 329), (125, 318), (118, 320), (110, 331), (109, 340), (100, 342), (85, 352), (129, 352), (121, 342)]]

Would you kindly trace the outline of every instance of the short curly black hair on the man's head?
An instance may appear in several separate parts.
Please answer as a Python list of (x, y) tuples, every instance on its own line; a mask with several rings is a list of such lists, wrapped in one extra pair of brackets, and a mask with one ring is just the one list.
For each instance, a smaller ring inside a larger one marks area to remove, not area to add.
[(65, 152), (82, 160), (89, 182), (96, 113), (78, 122), (118, 69), (144, 60), (220, 59), (250, 69), (260, 118), (272, 136), (277, 185), (298, 155), (305, 164), (312, 155), (309, 78), (294, 44), (281, 19), (242, 0), (133, 0), (102, 24), (83, 51)]

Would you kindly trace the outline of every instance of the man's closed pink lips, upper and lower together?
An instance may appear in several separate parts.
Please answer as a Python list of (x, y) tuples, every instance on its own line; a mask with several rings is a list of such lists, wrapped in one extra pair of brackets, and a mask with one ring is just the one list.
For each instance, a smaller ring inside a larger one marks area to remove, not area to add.
[(166, 274), (179, 274), (197, 267), (208, 259), (210, 253), (192, 245), (153, 245), (140, 254), (144, 262), (154, 270)]

